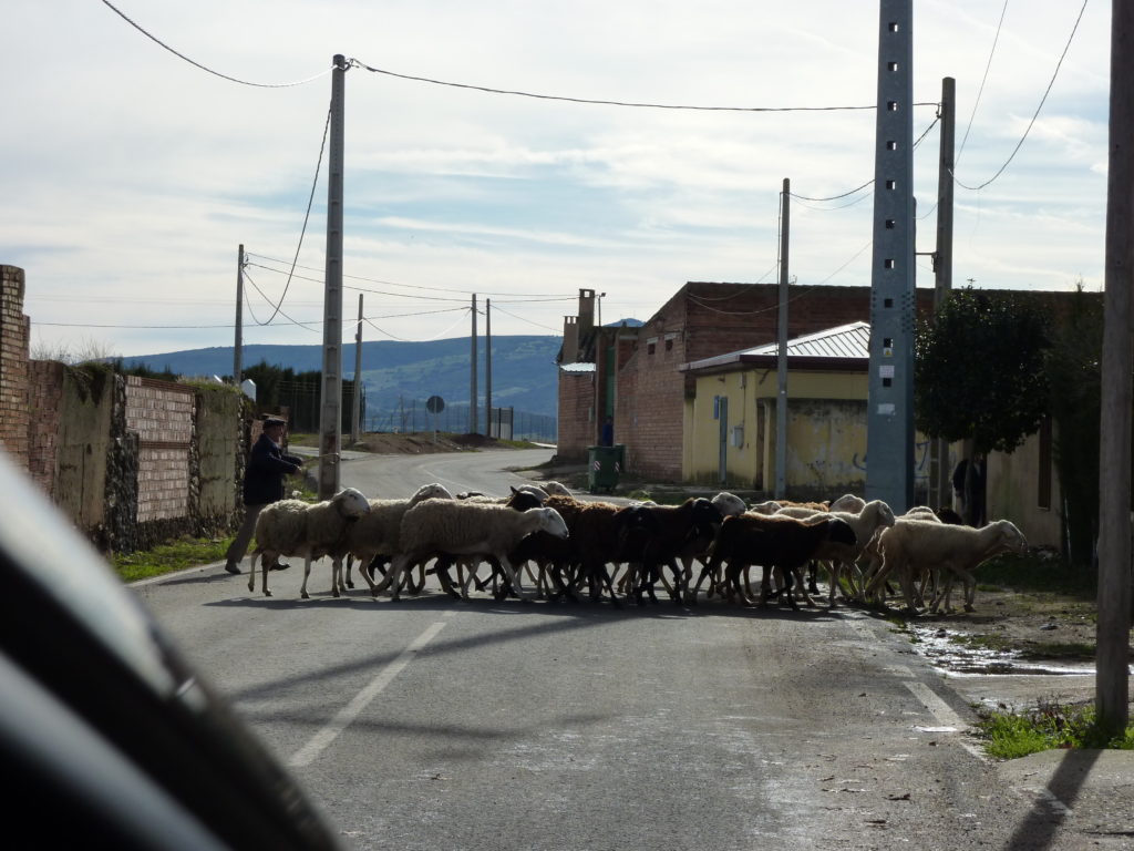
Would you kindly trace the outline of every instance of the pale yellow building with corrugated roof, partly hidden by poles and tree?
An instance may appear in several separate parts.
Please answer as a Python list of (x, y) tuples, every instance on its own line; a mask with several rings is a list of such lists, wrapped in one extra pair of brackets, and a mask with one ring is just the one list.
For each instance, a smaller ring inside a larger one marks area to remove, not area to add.
[[(870, 325), (852, 322), (787, 344), (787, 469), (789, 499), (863, 494), (866, 483), (866, 396)], [(756, 490), (776, 486), (775, 343), (683, 364), (686, 377), (683, 473), (689, 482)], [(929, 440), (916, 435), (914, 495), (928, 504)], [(949, 447), (951, 471), (962, 445)], [(1061, 520), (1046, 428), (1010, 455), (988, 464), (990, 519), (1006, 517), (1032, 546), (1058, 548)]]

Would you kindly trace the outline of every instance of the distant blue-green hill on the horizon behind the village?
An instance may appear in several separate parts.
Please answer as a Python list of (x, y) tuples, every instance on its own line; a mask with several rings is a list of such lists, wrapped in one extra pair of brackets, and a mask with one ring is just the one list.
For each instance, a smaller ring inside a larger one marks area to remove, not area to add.
[[(556, 416), (558, 374), (556, 355), (561, 337), (494, 336), (492, 338), (492, 404), (514, 407), (516, 412)], [(378, 340), (362, 344), (362, 380), (371, 414), (408, 408), (430, 396), (440, 396), (447, 405), (467, 406), (471, 344), (467, 337), (429, 343)], [(484, 397), (484, 339), (477, 340), (477, 395)], [(261, 361), (296, 372), (321, 370), (323, 349), (311, 346), (245, 346), (243, 363)], [(144, 364), (153, 370), (170, 370), (181, 376), (232, 374), (232, 347), (194, 348), (152, 355), (124, 357), (126, 366)], [(342, 374), (354, 377), (355, 345), (342, 347)], [(367, 418), (369, 419), (369, 418)]]

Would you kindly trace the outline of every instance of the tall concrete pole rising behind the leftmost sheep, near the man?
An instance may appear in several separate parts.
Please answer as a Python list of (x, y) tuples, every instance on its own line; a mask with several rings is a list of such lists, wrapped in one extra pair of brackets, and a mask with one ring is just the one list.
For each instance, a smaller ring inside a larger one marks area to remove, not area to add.
[(331, 73), (331, 145), (327, 169), (327, 273), (323, 289), (323, 387), (319, 415), (319, 498), (339, 489), (342, 428), (342, 160), (347, 60)]

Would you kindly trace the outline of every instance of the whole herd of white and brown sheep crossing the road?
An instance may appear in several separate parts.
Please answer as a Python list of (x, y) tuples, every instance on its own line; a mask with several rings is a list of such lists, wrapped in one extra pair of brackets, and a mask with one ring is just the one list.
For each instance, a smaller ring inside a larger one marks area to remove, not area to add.
[[(353, 588), (352, 563), (371, 593), (420, 592), (426, 571), (442, 589), (467, 599), (491, 588), (498, 597), (657, 600), (695, 605), (704, 595), (742, 605), (776, 598), (814, 605), (815, 576), (826, 570), (827, 603), (883, 604), (895, 581), (911, 612), (951, 610), (960, 580), (965, 610), (973, 608), (974, 568), (1000, 553), (1023, 553), (1027, 542), (1006, 520), (974, 529), (953, 512), (926, 507), (895, 516), (881, 502), (845, 495), (831, 503), (765, 502), (748, 506), (721, 492), (682, 505), (579, 500), (557, 482), (513, 488), (506, 499), (455, 497), (425, 485), (407, 499), (366, 499), (346, 488), (332, 499), (276, 503), (256, 522), (248, 590), (268, 589), (269, 565), (279, 556), (304, 559), (301, 596), (308, 597), (311, 563), (331, 558), (331, 593)], [(429, 565), (432, 564), (432, 568)], [(491, 575), (483, 573), (484, 565)], [(700, 570), (696, 567), (700, 566)], [(759, 590), (751, 568), (759, 566)], [(524, 588), (526, 576), (534, 590)], [(694, 575), (696, 580), (694, 581)]]

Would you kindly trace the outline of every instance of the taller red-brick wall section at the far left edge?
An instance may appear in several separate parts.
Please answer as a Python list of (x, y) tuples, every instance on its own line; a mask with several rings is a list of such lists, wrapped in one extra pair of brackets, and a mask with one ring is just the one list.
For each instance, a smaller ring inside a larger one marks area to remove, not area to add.
[(27, 464), (27, 346), (24, 270), (0, 266), (0, 446)]

